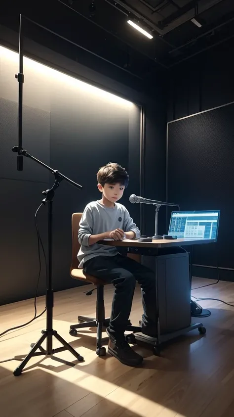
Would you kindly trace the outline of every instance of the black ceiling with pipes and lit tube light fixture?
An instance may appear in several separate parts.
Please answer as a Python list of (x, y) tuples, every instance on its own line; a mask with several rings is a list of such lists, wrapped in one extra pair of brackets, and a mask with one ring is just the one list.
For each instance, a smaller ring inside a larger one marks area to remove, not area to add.
[[(166, 67), (234, 36), (233, 0), (74, 0), (68, 3), (127, 45)], [(202, 24), (200, 28), (191, 21), (194, 17)], [(128, 18), (154, 38), (149, 40), (128, 26)]]

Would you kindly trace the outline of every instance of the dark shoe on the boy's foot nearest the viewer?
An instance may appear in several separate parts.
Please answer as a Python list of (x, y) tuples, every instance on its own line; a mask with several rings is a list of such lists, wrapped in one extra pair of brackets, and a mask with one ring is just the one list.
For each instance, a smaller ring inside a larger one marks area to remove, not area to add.
[(138, 355), (131, 346), (126, 342), (125, 338), (116, 340), (109, 332), (107, 328), (107, 334), (110, 337), (108, 344), (108, 353), (118, 359), (124, 365), (129, 367), (136, 367), (143, 361), (143, 357)]

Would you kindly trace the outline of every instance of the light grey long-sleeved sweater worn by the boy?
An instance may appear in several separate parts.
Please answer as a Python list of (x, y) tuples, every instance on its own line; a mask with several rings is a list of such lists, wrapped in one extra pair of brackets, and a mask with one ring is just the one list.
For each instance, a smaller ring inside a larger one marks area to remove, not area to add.
[(98, 201), (89, 203), (83, 212), (79, 223), (78, 241), (80, 246), (78, 252), (78, 268), (82, 268), (85, 261), (95, 256), (115, 256), (115, 246), (105, 246), (95, 243), (89, 246), (88, 239), (91, 234), (111, 232), (115, 229), (122, 229), (124, 232), (135, 232), (136, 239), (140, 237), (138, 227), (133, 223), (127, 209), (119, 203), (115, 207), (103, 206)]

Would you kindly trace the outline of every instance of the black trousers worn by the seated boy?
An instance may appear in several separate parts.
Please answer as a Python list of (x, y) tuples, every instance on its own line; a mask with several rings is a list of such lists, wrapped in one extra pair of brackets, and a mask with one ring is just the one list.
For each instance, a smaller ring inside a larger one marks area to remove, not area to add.
[(121, 337), (126, 329), (136, 280), (142, 288), (142, 325), (149, 332), (156, 332), (156, 282), (153, 271), (119, 254), (89, 259), (84, 263), (83, 270), (115, 286), (110, 321), (110, 332), (114, 337)]

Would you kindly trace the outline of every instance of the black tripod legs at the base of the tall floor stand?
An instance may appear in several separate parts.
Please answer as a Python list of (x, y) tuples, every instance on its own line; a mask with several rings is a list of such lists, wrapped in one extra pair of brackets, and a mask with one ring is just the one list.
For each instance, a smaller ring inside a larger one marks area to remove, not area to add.
[[(52, 337), (53, 336), (63, 345), (63, 347), (52, 349), (51, 351), (48, 352), (41, 347), (41, 344), (43, 343), (43, 341), (45, 339), (47, 339), (47, 346), (48, 346), (48, 342), (51, 342), (51, 346), (52, 346)], [(21, 375), (21, 372), (23, 371), (24, 367), (27, 365), (29, 360), (31, 358), (33, 358), (34, 356), (41, 356), (41, 355), (50, 356), (50, 355), (53, 355), (54, 353), (62, 352), (64, 350), (69, 350), (69, 352), (71, 352), (78, 359), (78, 361), (80, 361), (80, 362), (83, 361), (83, 357), (80, 356), (78, 354), (78, 352), (75, 349), (73, 349), (73, 347), (70, 346), (69, 343), (67, 343), (66, 340), (64, 340), (57, 333), (56, 330), (51, 330), (51, 331), (42, 330), (42, 336), (40, 336), (37, 343), (35, 343), (35, 344), (32, 343), (31, 347), (32, 347), (31, 351), (24, 358), (24, 360), (21, 362), (21, 364), (14, 370), (14, 372), (13, 372), (14, 376)], [(36, 352), (37, 349), (39, 349), (40, 352)]]

